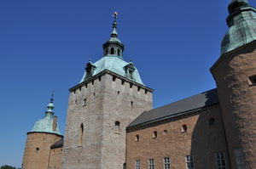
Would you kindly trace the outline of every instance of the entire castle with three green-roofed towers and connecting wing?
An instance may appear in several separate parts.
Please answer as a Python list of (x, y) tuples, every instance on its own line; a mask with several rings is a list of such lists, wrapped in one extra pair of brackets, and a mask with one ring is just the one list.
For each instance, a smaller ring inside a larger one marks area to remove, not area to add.
[(113, 21), (102, 59), (69, 89), (66, 136), (54, 116), (27, 132), (23, 169), (255, 169), (256, 8), (231, 0), (229, 31), (211, 67), (217, 88), (152, 109), (153, 89)]

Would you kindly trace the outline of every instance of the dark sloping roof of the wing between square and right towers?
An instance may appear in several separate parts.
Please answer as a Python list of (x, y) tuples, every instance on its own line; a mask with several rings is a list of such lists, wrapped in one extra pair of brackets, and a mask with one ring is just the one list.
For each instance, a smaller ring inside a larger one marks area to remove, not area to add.
[(164, 117), (177, 115), (191, 110), (201, 109), (203, 107), (218, 104), (217, 88), (204, 93), (196, 94), (187, 99), (182, 99), (172, 104), (167, 104), (154, 110), (144, 111), (137, 119), (131, 122), (127, 127), (135, 127), (149, 121), (155, 121)]

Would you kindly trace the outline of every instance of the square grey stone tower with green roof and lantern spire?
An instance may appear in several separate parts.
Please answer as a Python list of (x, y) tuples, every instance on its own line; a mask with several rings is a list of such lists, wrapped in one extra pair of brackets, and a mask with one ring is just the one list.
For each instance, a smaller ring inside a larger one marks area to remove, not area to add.
[(152, 109), (153, 90), (143, 84), (133, 63), (123, 59), (116, 29), (114, 20), (102, 59), (89, 60), (81, 82), (69, 89), (61, 169), (123, 168), (125, 127)]

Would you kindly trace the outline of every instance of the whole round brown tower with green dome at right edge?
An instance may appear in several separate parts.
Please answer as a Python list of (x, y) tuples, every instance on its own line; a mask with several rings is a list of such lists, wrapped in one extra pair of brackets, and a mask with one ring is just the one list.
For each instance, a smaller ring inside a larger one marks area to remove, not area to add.
[(228, 7), (230, 30), (211, 72), (218, 88), (231, 168), (256, 168), (256, 8), (247, 0)]

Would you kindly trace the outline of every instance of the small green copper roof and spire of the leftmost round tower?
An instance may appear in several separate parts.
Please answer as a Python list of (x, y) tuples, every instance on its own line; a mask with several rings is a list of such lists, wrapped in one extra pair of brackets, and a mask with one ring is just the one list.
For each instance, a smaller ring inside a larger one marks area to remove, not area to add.
[(55, 108), (53, 104), (53, 99), (51, 99), (50, 103), (47, 105), (48, 110), (45, 111), (44, 119), (38, 120), (32, 130), (30, 132), (50, 132), (55, 134), (60, 134), (60, 127), (59, 124), (56, 124), (55, 131), (53, 131), (53, 122), (54, 122), (54, 112), (53, 109)]

